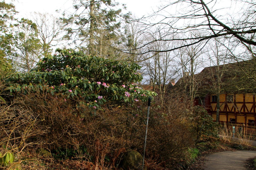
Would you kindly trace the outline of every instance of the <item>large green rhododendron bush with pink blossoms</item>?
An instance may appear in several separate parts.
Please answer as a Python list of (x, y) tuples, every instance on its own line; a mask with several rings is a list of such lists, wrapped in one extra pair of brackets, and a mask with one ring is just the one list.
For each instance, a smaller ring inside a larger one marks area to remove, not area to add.
[(136, 63), (86, 56), (81, 51), (57, 49), (28, 73), (14, 73), (10, 93), (47, 91), (69, 97), (82, 97), (85, 105), (98, 108), (106, 103), (145, 101), (155, 92), (143, 90)]

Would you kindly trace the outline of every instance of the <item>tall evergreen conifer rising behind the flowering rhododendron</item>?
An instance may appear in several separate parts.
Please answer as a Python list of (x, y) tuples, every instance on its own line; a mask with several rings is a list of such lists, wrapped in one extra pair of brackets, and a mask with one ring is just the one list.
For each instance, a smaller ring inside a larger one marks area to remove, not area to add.
[[(77, 47), (87, 50), (89, 54), (109, 58), (113, 51), (103, 55), (102, 48), (113, 41), (118, 43), (116, 30), (121, 27), (121, 21), (117, 18), (127, 19), (130, 16), (130, 13), (122, 14), (121, 9), (113, 9), (118, 5), (111, 0), (74, 0), (75, 14), (65, 18), (63, 13), (63, 21), (70, 24), (65, 38), (74, 39)], [(124, 4), (123, 7), (126, 8)]]

